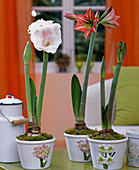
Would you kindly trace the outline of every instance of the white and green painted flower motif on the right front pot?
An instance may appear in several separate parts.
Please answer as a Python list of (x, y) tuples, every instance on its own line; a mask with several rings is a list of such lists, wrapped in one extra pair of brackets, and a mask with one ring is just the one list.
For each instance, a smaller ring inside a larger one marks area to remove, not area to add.
[(104, 169), (108, 169), (109, 165), (114, 162), (114, 147), (111, 145), (100, 145), (98, 147), (99, 155), (98, 155), (98, 163), (102, 164)]

